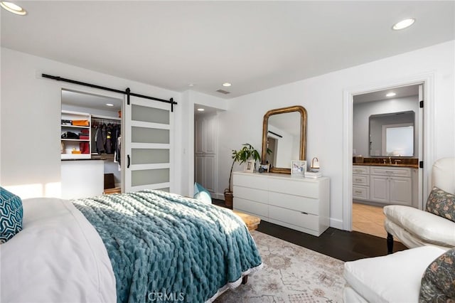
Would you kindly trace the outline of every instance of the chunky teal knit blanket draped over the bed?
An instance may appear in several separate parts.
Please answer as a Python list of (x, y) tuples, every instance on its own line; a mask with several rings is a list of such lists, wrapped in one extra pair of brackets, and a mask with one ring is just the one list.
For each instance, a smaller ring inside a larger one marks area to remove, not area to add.
[(151, 190), (72, 202), (105, 243), (117, 302), (205, 302), (262, 265), (228, 209)]

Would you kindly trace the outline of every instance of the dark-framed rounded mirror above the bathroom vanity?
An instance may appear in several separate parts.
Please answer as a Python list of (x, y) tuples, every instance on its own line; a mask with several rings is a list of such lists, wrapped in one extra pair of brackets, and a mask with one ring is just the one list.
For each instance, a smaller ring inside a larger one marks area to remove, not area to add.
[(414, 156), (415, 113), (390, 112), (370, 116), (370, 156)]

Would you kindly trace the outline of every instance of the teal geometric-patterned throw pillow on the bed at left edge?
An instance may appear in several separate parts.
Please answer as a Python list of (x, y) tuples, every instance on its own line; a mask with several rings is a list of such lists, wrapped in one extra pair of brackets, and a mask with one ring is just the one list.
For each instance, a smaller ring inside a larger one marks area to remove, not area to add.
[(22, 230), (22, 200), (0, 187), (0, 244)]

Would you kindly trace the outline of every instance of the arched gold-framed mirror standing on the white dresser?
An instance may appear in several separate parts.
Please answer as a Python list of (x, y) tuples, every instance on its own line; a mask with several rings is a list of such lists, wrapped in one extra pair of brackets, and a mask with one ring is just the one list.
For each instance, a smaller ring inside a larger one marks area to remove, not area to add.
[(291, 174), (291, 161), (305, 158), (305, 108), (296, 105), (269, 110), (262, 123), (262, 162), (268, 161), (272, 173)]

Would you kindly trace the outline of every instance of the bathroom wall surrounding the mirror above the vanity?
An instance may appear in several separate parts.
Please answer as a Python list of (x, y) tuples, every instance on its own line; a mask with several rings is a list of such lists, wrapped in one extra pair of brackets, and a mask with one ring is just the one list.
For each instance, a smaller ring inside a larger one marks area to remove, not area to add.
[[(353, 107), (353, 149), (355, 154), (370, 156), (369, 130), (370, 115), (387, 114), (390, 112), (405, 112), (412, 110), (414, 117), (414, 151), (419, 147), (419, 97), (401, 97), (374, 102), (356, 103)], [(398, 117), (397, 117), (398, 118)], [(392, 124), (392, 123), (391, 123)], [(379, 140), (381, 142), (381, 140)], [(417, 154), (416, 154), (417, 155)]]

